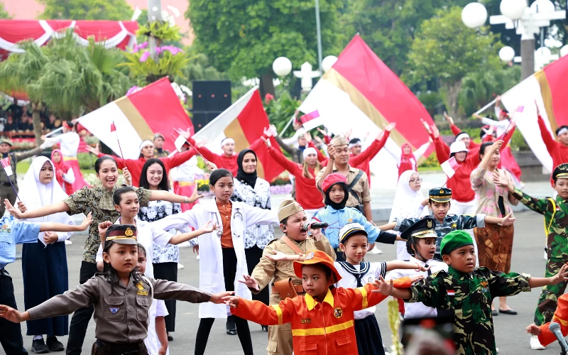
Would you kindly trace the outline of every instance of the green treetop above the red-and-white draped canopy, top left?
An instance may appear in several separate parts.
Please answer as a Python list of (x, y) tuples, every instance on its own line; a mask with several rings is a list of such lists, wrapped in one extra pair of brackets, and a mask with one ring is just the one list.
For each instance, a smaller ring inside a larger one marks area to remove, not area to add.
[(40, 0), (48, 20), (129, 20), (133, 9), (126, 0)]

